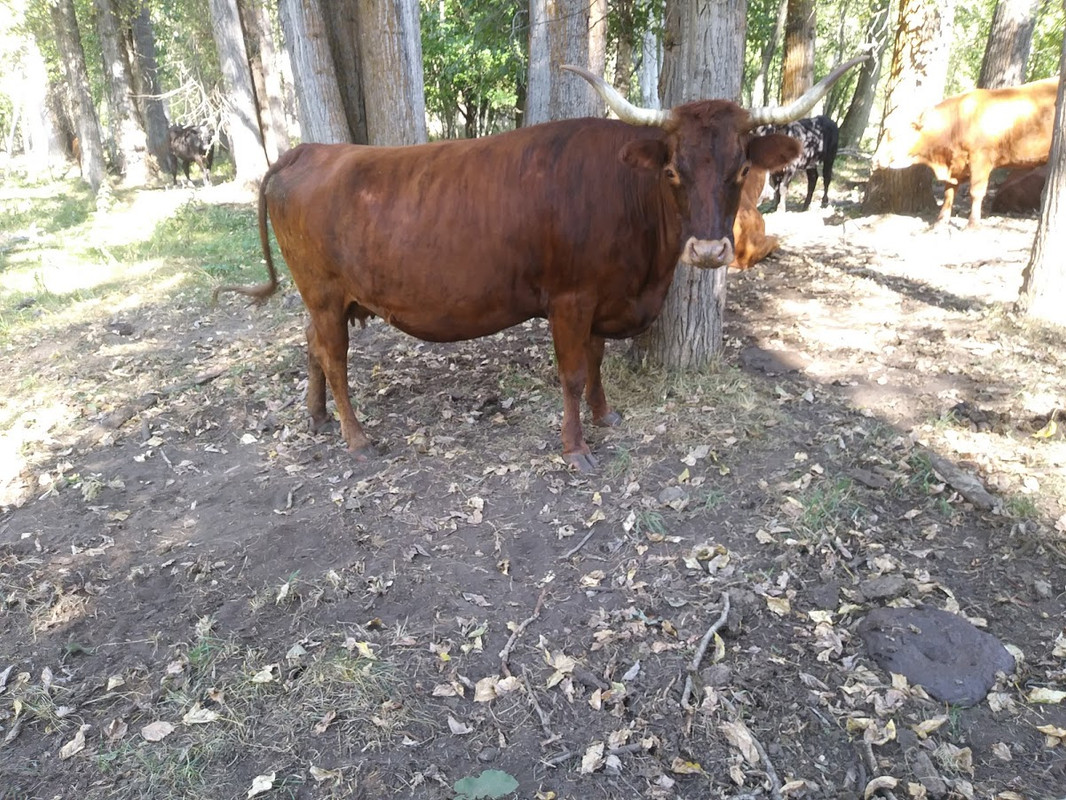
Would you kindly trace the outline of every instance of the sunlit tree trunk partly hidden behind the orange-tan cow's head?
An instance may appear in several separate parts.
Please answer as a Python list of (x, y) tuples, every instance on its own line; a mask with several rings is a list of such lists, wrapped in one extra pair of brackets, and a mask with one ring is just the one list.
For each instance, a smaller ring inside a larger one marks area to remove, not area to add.
[[(910, 125), (943, 96), (954, 5), (955, 0), (901, 0), (878, 144), (886, 130)], [(926, 166), (875, 170), (867, 181), (863, 213), (923, 215), (935, 208)]]

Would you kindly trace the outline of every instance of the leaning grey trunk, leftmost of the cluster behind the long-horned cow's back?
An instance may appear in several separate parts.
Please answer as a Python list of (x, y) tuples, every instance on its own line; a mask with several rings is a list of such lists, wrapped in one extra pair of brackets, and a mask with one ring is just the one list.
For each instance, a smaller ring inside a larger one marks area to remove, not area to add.
[(323, 144), (354, 141), (318, 0), (281, 0), (280, 15), (296, 87), (301, 138)]

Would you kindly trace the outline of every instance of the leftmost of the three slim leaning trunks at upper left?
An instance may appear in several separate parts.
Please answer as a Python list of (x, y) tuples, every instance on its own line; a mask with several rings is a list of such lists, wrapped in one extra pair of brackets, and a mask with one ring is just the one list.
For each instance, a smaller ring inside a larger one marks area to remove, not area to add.
[(85, 69), (85, 51), (81, 47), (81, 33), (74, 12), (74, 0), (54, 0), (49, 5), (52, 28), (55, 32), (55, 47), (60, 54), (60, 66), (70, 102), (74, 107), (75, 127), (81, 148), (81, 175), (93, 194), (108, 194), (104, 181), (103, 143), (100, 140), (100, 122), (88, 91), (88, 74)]

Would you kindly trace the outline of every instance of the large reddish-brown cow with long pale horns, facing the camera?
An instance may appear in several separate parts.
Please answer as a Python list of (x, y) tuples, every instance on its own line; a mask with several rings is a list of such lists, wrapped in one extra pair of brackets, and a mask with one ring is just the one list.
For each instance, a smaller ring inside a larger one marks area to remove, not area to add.
[[(780, 135), (759, 124), (802, 116), (855, 59), (784, 109), (727, 100), (658, 111), (588, 80), (623, 119), (565, 119), (474, 140), (409, 147), (303, 144), (259, 190), (270, 279), (226, 286), (257, 301), (277, 288), (266, 218), (310, 313), (307, 406), (328, 421), (325, 385), (349, 451), (370, 441), (352, 410), (348, 325), (377, 316), (430, 341), (455, 341), (540, 317), (563, 386), (563, 453), (596, 466), (581, 428), (617, 425), (600, 380), (604, 339), (659, 315), (678, 259), (733, 260), (732, 222), (748, 165), (773, 167)], [(631, 124), (633, 123), (633, 124)]]

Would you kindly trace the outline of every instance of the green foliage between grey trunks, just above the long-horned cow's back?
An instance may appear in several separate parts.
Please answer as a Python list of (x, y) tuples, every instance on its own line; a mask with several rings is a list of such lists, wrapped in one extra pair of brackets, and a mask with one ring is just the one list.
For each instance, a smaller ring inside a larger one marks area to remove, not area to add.
[(425, 108), (438, 135), (514, 127), (524, 94), (527, 20), (519, 0), (422, 0)]

